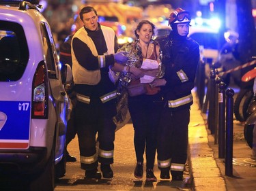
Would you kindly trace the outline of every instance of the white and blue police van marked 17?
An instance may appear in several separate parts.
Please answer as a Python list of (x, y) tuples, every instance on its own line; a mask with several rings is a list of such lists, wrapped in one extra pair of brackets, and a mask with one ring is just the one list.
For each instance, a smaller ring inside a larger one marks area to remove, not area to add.
[[(0, 177), (22, 177), (37, 191), (54, 190), (65, 174), (69, 105), (38, 3), (0, 1)], [(70, 67), (65, 73), (69, 81)]]

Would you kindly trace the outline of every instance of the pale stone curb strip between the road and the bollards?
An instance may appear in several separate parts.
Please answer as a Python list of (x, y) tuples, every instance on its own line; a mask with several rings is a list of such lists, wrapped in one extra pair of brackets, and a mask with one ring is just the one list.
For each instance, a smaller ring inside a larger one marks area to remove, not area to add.
[(193, 92), (193, 98), (194, 103), (191, 106), (188, 125), (188, 160), (193, 190), (226, 191), (225, 179), (221, 175), (214, 152), (208, 143), (208, 132), (195, 92)]

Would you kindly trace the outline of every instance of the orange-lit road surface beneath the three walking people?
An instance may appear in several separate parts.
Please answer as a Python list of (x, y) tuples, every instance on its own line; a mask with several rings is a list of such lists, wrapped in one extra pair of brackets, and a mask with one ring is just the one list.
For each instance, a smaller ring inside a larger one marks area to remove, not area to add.
[[(145, 171), (143, 179), (136, 179), (133, 176), (136, 164), (134, 145), (133, 145), (133, 127), (132, 124), (126, 124), (115, 134), (115, 152), (113, 179), (100, 179), (99, 181), (84, 179), (85, 171), (80, 169), (79, 144), (77, 137), (68, 145), (68, 151), (76, 156), (77, 162), (68, 162), (66, 176), (56, 182), (55, 191), (79, 191), (79, 190), (191, 190), (190, 185), (183, 181), (171, 181), (170, 179), (160, 180), (160, 171), (155, 164), (154, 171), (158, 181), (146, 182)], [(145, 166), (145, 164), (144, 164)], [(100, 169), (100, 168), (98, 168)], [(188, 168), (187, 168), (188, 169)], [(184, 177), (189, 181), (188, 171)]]

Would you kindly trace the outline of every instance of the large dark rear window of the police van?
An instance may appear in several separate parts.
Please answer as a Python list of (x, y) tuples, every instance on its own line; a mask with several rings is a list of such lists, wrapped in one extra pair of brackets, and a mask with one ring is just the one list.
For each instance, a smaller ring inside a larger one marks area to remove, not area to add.
[(0, 82), (13, 82), (23, 76), (29, 50), (23, 27), (0, 21)]

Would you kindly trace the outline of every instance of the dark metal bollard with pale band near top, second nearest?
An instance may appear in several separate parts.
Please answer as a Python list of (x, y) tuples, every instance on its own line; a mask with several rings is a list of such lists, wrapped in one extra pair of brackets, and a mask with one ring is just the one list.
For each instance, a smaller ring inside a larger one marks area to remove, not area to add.
[(226, 106), (226, 84), (218, 84), (218, 158), (225, 158), (225, 106)]

